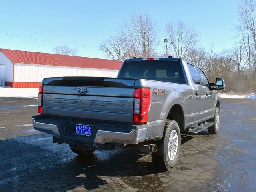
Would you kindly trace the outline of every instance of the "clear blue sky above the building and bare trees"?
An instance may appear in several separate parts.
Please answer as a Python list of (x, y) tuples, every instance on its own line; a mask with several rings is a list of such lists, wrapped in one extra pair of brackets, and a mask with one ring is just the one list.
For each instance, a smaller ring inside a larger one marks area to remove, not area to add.
[(106, 58), (99, 44), (135, 12), (147, 12), (158, 25), (159, 53), (165, 51), (167, 22), (194, 26), (198, 46), (207, 50), (213, 44), (220, 52), (234, 44), (238, 20), (236, 0), (0, 0), (0, 12), (0, 48), (54, 53), (54, 46), (67, 45), (92, 58)]

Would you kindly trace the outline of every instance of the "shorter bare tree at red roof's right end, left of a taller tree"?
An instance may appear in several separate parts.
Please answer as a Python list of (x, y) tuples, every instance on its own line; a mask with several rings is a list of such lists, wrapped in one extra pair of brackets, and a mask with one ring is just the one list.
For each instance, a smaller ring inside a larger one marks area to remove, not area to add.
[(100, 50), (102, 50), (107, 57), (113, 60), (123, 61), (127, 58), (125, 41), (120, 34), (111, 36), (107, 40), (104, 40), (100, 44)]

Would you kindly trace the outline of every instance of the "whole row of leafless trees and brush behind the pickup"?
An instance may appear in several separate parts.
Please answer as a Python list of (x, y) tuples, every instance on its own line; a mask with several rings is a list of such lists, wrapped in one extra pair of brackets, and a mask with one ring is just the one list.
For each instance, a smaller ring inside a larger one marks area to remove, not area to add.
[[(238, 3), (238, 24), (231, 49), (215, 52), (199, 47), (200, 34), (182, 21), (168, 22), (164, 32), (172, 42), (168, 55), (191, 60), (198, 64), (210, 82), (223, 77), (226, 91), (256, 92), (256, 2), (242, 0)], [(157, 52), (160, 44), (158, 25), (147, 13), (135, 13), (125, 20), (120, 30), (100, 44), (100, 50), (113, 60), (132, 57), (165, 56)], [(164, 47), (163, 47), (164, 50)]]

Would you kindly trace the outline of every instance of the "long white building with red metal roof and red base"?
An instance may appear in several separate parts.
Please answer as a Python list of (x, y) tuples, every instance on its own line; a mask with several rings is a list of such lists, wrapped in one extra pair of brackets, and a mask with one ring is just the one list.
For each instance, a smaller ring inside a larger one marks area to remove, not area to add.
[(36, 88), (45, 77), (116, 77), (121, 61), (0, 49), (0, 85)]

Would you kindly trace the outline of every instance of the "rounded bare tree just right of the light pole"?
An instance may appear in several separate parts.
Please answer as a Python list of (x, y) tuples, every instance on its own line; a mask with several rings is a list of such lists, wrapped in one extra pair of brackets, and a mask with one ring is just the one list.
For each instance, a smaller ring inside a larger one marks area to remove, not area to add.
[(176, 57), (188, 58), (200, 41), (199, 33), (182, 21), (166, 24), (166, 34), (172, 42), (172, 50)]

